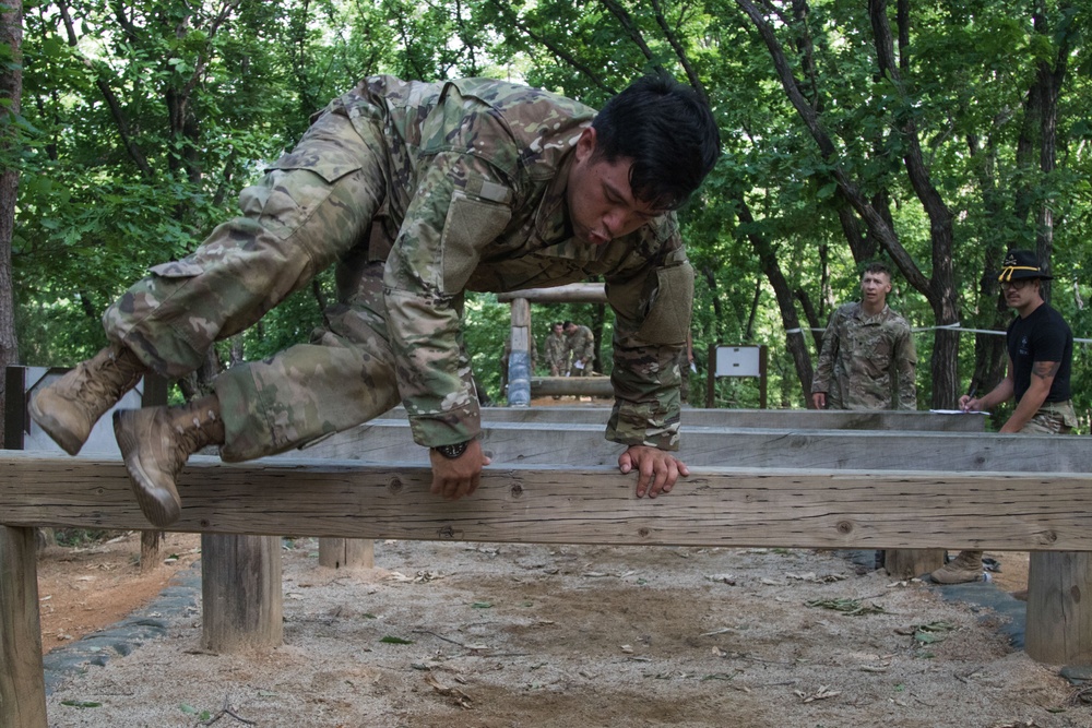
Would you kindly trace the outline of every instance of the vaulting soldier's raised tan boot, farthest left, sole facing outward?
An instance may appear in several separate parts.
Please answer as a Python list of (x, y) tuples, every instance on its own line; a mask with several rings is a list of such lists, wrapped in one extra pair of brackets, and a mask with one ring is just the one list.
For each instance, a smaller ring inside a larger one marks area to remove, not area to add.
[(87, 441), (103, 414), (147, 371), (136, 355), (111, 344), (31, 399), (31, 418), (69, 455)]

